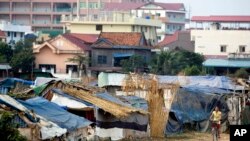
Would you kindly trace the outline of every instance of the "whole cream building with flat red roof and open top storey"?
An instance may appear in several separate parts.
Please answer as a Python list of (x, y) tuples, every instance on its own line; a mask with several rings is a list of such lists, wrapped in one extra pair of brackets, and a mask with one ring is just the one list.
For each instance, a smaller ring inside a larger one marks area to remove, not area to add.
[(195, 52), (206, 58), (250, 53), (250, 16), (196, 16), (192, 26)]

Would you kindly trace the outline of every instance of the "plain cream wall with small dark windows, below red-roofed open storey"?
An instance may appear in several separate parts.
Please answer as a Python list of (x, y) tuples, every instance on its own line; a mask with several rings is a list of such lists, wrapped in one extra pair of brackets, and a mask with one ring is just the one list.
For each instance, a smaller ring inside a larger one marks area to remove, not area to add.
[[(246, 46), (250, 53), (250, 31), (244, 30), (192, 30), (191, 40), (195, 41), (195, 52), (203, 55), (227, 56), (239, 52), (239, 46)], [(227, 51), (220, 52), (220, 46), (226, 45)]]

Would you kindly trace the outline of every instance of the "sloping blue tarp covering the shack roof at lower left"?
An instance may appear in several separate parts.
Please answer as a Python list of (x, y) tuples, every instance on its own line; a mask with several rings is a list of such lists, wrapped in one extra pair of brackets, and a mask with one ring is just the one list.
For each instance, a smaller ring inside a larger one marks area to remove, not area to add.
[(69, 131), (86, 127), (92, 123), (83, 117), (67, 112), (57, 104), (49, 102), (42, 97), (35, 97), (26, 101), (19, 100), (19, 102), (29, 110), (34, 110), (36, 114)]

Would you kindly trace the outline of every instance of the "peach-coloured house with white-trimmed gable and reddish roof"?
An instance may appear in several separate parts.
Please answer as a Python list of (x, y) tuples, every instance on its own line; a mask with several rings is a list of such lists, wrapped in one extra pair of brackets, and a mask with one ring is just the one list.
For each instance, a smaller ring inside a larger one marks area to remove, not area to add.
[[(90, 45), (94, 43), (98, 35), (63, 34), (41, 45), (33, 47), (36, 56), (36, 68), (57, 74), (69, 74), (77, 72), (77, 63), (69, 62), (69, 58), (76, 55), (89, 57)], [(88, 66), (86, 66), (88, 67)]]

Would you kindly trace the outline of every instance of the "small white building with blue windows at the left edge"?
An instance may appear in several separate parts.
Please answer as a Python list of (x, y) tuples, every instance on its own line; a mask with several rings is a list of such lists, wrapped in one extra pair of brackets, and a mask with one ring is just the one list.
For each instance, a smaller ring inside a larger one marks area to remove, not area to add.
[(5, 32), (8, 44), (15, 44), (24, 39), (25, 34), (32, 33), (31, 26), (16, 25), (6, 21), (0, 21), (0, 30)]

